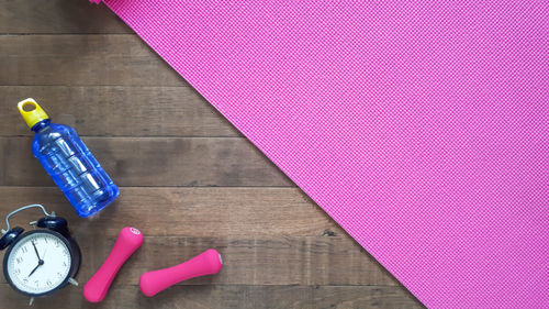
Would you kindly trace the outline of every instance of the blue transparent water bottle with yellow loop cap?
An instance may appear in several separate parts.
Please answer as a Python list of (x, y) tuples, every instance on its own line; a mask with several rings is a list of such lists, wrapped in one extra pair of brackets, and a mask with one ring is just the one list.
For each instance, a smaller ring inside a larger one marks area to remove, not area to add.
[(61, 189), (80, 217), (103, 209), (120, 191), (99, 165), (75, 129), (52, 123), (44, 110), (29, 98), (19, 111), (34, 131), (33, 154)]

